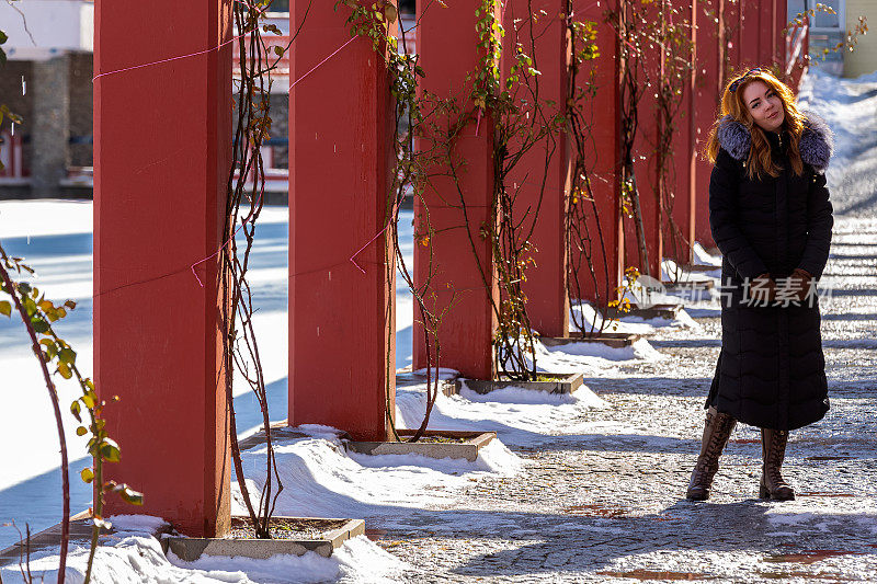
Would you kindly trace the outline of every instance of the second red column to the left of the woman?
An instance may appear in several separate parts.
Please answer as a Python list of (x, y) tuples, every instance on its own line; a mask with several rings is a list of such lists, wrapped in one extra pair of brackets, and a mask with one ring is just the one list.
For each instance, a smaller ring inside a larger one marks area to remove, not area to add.
[[(687, 21), (687, 33), (692, 43), (691, 58), (696, 59), (697, 44), (697, 2), (675, 2), (680, 16)], [(679, 23), (677, 23), (679, 24)], [(680, 55), (686, 58), (685, 55)], [(671, 61), (668, 60), (668, 65)], [(676, 262), (692, 262), (692, 243), (695, 233), (695, 118), (694, 118), (694, 83), (696, 70), (684, 72), (683, 93), (679, 113), (676, 114), (672, 141), (673, 174), (668, 185), (673, 194), (672, 217), (674, 229), (664, 230), (664, 255)], [(667, 225), (667, 224), (665, 224)]]

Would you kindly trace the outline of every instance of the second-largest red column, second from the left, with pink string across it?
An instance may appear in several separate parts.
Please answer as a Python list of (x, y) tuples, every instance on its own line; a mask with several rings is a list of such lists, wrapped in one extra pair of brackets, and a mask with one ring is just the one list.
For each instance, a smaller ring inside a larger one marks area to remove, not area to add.
[(289, 92), (289, 424), (384, 440), (396, 394), (395, 274), (383, 233), (395, 115), (384, 59), (367, 39), (317, 67), (351, 38), (333, 5), (289, 7), (293, 31), (307, 13), (292, 79), (312, 70)]

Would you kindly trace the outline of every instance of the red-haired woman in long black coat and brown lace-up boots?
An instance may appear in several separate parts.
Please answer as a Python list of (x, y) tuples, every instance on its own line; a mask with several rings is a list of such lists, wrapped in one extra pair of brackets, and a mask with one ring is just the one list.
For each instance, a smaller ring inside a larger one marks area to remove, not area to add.
[(732, 79), (707, 142), (709, 226), (721, 265), (721, 352), (687, 499), (709, 497), (737, 421), (762, 439), (759, 496), (795, 499), (779, 471), (788, 433), (829, 409), (816, 282), (834, 219), (825, 123), (766, 69)]

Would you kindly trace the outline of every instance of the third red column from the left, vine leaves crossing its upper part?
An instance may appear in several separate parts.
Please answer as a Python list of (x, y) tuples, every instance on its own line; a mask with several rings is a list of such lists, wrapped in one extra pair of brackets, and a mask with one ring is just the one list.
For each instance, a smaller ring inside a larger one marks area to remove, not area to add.
[[(475, 31), (475, 11), (480, 7), (480, 0), (459, 0), (448, 2), (447, 8), (432, 4), (423, 11), (424, 2), (418, 2), (418, 51), (420, 65), (426, 71), (421, 89), (441, 99), (456, 99), (463, 111), (474, 107), (469, 100), (471, 82), (466, 78), (476, 71), (481, 56)], [(501, 19), (499, 8), (496, 18)], [(442, 125), (446, 121), (437, 123)], [(425, 145), (422, 142), (421, 147)], [(490, 241), (479, 234), (481, 225), (492, 220), (493, 122), (490, 115), (463, 129), (454, 157), (458, 163), (465, 160), (465, 167), (457, 168), (459, 188), (449, 178), (435, 174), (447, 172), (447, 167), (443, 165), (433, 169), (424, 201), (414, 202), (415, 232), (426, 234), (428, 222), (433, 230), (432, 259), (429, 248), (415, 245), (414, 279), (422, 286), (432, 273), (425, 298), (432, 310), (444, 310), (438, 329), (440, 365), (457, 369), (466, 377), (491, 379), (497, 319), (488, 295), (497, 298), (498, 289)], [(468, 225), (460, 195), (466, 203)], [(475, 252), (470, 241), (475, 243)], [(421, 316), (417, 311), (413, 334), (413, 362), (418, 369), (425, 367), (428, 359)]]

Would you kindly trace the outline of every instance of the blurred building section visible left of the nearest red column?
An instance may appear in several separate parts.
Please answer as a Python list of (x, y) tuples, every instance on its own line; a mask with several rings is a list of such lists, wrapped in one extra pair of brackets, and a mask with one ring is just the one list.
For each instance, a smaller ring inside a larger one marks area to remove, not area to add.
[(0, 196), (61, 196), (84, 191), (75, 169), (91, 167), (94, 4), (86, 0), (0, 3), (9, 61), (0, 98), (24, 118), (0, 126), (5, 170)]

